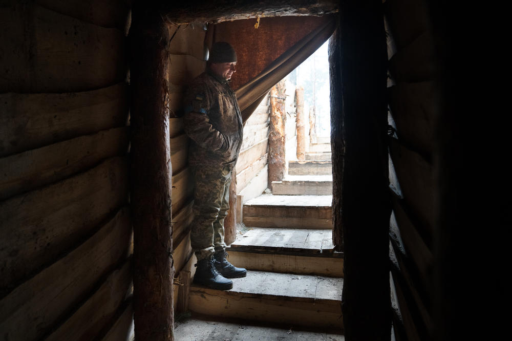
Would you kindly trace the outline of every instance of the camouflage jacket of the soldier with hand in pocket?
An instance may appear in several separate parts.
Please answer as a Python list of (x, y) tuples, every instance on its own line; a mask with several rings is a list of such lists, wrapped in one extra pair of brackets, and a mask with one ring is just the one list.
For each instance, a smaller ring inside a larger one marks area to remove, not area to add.
[(226, 80), (208, 70), (196, 77), (184, 101), (185, 133), (192, 140), (191, 165), (231, 166), (242, 145), (242, 115), (237, 98)]

